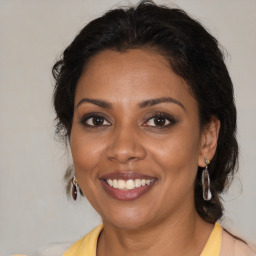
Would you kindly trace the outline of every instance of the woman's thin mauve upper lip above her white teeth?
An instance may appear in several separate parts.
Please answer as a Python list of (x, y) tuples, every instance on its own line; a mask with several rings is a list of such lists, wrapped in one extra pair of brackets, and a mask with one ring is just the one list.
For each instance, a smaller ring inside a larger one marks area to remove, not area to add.
[(110, 172), (102, 175), (100, 179), (104, 180), (135, 180), (135, 179), (146, 179), (152, 180), (156, 179), (156, 177), (145, 175), (138, 172)]

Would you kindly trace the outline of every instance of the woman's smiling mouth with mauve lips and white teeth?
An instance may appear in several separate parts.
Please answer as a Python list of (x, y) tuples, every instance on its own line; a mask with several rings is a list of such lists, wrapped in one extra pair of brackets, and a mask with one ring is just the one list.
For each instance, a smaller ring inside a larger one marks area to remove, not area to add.
[(116, 200), (135, 200), (146, 194), (157, 179), (138, 173), (111, 173), (100, 178), (105, 192)]

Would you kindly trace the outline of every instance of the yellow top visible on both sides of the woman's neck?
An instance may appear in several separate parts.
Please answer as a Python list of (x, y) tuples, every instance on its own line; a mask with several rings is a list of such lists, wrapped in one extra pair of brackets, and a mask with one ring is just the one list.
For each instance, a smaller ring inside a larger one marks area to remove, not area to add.
[[(97, 241), (103, 225), (99, 225), (82, 239), (74, 243), (63, 256), (96, 256)], [(214, 229), (200, 256), (219, 256), (222, 227), (215, 223)]]

